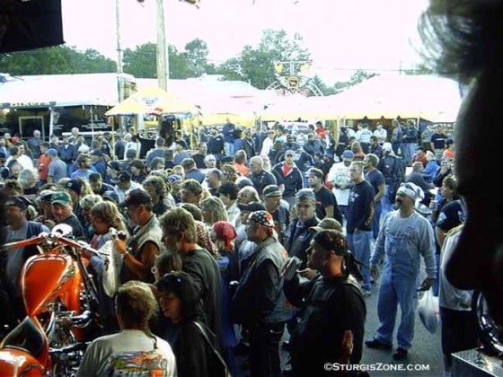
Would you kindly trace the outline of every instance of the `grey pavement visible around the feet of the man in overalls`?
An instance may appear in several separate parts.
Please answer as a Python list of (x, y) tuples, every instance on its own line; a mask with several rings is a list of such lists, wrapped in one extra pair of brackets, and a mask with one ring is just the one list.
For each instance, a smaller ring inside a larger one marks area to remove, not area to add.
[[(374, 285), (374, 291), (371, 297), (366, 298), (366, 339), (372, 338), (375, 334), (375, 329), (379, 324), (377, 319), (377, 292), (378, 285)], [(397, 322), (400, 319), (400, 311), (397, 314)], [(398, 327), (398, 326), (397, 326)], [(287, 334), (285, 336), (287, 338)], [(395, 338), (396, 339), (396, 338)], [(396, 345), (394, 345), (396, 346)], [(361, 364), (375, 364), (384, 368), (383, 371), (369, 372), (371, 376), (441, 376), (443, 371), (443, 356), (442, 346), (440, 344), (440, 330), (436, 334), (430, 334), (416, 315), (415, 338), (413, 346), (409, 352), (408, 360), (397, 363), (392, 357), (393, 351), (384, 351), (371, 349), (364, 346), (363, 358)], [(286, 366), (287, 353), (282, 351), (283, 366)], [(245, 367), (246, 358), (237, 357), (238, 373), (237, 376), (249, 375)], [(398, 365), (402, 364), (402, 366)], [(405, 370), (407, 368), (421, 368), (422, 371), (411, 372)], [(392, 368), (403, 368), (402, 371), (393, 370)], [(428, 369), (424, 369), (428, 368)]]

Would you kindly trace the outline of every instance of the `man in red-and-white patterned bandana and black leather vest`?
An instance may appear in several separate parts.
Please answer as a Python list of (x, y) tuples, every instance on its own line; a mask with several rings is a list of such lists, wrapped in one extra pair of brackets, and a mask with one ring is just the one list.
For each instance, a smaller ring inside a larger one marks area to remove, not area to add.
[(234, 294), (234, 320), (250, 329), (252, 377), (278, 376), (279, 340), (293, 313), (287, 305), (280, 274), (287, 251), (274, 237), (274, 221), (267, 211), (250, 215), (246, 235), (257, 248)]

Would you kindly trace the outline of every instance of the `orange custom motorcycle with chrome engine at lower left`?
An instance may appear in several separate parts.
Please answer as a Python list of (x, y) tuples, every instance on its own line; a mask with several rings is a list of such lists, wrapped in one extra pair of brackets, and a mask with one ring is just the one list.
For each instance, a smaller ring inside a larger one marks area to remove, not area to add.
[[(26, 317), (0, 344), (0, 375), (75, 375), (97, 324), (98, 294), (81, 253), (98, 255), (70, 238), (71, 227), (58, 224), (1, 250), (35, 245), (40, 251), (22, 267), (20, 287)], [(15, 251), (13, 251), (15, 252)]]

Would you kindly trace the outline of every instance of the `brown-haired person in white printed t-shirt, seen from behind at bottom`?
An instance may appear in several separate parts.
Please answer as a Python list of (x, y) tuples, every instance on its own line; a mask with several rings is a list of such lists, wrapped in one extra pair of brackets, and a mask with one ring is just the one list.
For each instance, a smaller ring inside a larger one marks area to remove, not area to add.
[(149, 286), (130, 281), (119, 288), (116, 302), (120, 332), (93, 341), (85, 351), (77, 376), (175, 376), (172, 347), (155, 337), (148, 326), (157, 311)]

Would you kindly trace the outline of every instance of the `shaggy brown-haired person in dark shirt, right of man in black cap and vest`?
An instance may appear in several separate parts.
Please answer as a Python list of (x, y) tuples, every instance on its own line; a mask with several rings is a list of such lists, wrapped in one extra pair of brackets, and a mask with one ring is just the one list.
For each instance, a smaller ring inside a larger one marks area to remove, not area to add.
[(173, 208), (159, 219), (164, 246), (168, 252), (181, 256), (181, 269), (196, 285), (207, 314), (207, 325), (216, 335), (216, 345), (222, 347), (222, 282), (216, 259), (198, 244), (196, 223), (183, 208)]

